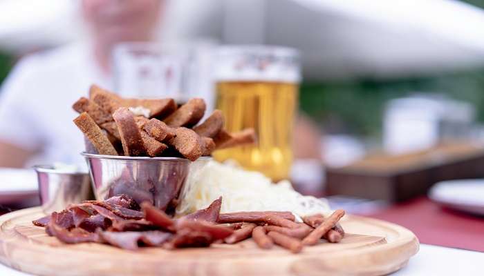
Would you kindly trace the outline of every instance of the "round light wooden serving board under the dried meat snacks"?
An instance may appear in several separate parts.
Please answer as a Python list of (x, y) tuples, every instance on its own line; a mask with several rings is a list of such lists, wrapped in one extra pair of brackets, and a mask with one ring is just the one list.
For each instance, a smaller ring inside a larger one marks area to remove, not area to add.
[(261, 250), (247, 240), (210, 248), (136, 252), (103, 244), (62, 244), (31, 221), (40, 208), (0, 217), (0, 262), (35, 275), (386, 275), (418, 251), (411, 231), (385, 221), (347, 216), (339, 244), (322, 242), (299, 254)]

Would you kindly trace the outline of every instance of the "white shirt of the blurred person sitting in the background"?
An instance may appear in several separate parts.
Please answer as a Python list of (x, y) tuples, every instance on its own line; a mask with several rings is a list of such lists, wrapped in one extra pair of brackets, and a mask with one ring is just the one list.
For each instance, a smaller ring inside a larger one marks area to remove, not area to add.
[(0, 94), (0, 141), (40, 150), (28, 162), (63, 162), (85, 166), (80, 155), (84, 135), (73, 119), (73, 103), (97, 83), (111, 89), (111, 81), (96, 68), (84, 45), (70, 45), (21, 59)]

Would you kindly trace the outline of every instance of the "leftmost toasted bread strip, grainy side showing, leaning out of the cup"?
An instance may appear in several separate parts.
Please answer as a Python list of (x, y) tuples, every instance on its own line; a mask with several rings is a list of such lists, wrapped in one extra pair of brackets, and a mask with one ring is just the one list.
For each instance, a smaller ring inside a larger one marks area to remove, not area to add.
[(77, 118), (74, 119), (74, 124), (86, 135), (87, 139), (91, 141), (97, 153), (100, 155), (118, 155), (113, 145), (109, 142), (108, 137), (102, 133), (102, 130), (93, 118), (82, 112)]

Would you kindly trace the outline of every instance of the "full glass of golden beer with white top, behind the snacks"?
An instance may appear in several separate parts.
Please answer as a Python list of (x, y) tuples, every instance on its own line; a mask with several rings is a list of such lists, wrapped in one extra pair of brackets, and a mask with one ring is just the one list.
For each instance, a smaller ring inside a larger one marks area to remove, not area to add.
[(222, 46), (216, 54), (216, 108), (230, 132), (254, 128), (257, 145), (214, 152), (274, 181), (292, 164), (292, 125), (301, 79), (299, 53), (276, 46)]

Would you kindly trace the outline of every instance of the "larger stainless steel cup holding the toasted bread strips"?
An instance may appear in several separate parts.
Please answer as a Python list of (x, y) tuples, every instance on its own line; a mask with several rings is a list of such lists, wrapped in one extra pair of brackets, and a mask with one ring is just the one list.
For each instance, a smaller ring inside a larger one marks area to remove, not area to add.
[(91, 174), (97, 200), (129, 195), (138, 203), (149, 201), (168, 212), (189, 172), (188, 159), (178, 157), (127, 157), (82, 153)]

